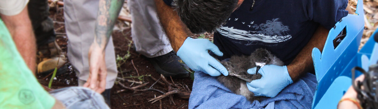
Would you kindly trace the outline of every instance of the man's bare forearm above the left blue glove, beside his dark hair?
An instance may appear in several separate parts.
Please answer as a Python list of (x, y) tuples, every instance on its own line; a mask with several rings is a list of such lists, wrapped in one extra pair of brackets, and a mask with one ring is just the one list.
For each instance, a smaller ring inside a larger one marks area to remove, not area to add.
[(155, 0), (156, 12), (173, 50), (178, 51), (183, 45), (185, 39), (189, 36), (190, 31), (180, 20), (177, 12), (166, 5), (163, 0)]

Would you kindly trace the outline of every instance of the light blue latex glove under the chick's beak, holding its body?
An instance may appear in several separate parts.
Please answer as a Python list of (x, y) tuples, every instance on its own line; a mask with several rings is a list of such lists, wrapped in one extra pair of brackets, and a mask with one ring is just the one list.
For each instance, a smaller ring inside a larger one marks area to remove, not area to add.
[[(248, 69), (248, 74), (256, 74), (256, 67)], [(286, 66), (265, 65), (259, 70), (259, 80), (247, 82), (249, 91), (255, 96), (276, 97), (287, 85), (293, 83)]]

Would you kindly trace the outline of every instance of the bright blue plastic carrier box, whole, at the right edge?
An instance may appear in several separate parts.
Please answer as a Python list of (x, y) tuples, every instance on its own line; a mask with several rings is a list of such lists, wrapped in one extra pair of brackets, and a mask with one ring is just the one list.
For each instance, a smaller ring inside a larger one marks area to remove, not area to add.
[[(367, 70), (370, 64), (378, 60), (378, 44), (373, 40), (377, 31), (358, 52), (364, 29), (363, 0), (358, 0), (356, 14), (358, 15), (348, 14), (336, 23), (328, 34), (322, 52), (318, 48), (312, 51), (318, 81), (312, 109), (336, 109), (339, 100), (352, 85), (351, 69), (360, 66)], [(334, 48), (333, 40), (344, 28), (346, 36)]]

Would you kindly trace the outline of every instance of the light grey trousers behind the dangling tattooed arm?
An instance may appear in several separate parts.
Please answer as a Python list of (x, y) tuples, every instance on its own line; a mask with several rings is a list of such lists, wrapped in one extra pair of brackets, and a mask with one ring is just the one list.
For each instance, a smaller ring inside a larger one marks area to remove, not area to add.
[[(67, 56), (79, 78), (79, 86), (83, 86), (89, 77), (88, 50), (94, 40), (98, 4), (99, 0), (64, 0)], [(105, 48), (105, 61), (106, 89), (110, 89), (118, 72), (112, 37)]]

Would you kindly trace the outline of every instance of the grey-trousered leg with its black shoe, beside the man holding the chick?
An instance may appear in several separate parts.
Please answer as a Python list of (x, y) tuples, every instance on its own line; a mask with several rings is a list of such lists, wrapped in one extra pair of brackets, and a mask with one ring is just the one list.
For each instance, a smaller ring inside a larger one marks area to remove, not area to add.
[[(154, 0), (127, 0), (132, 15), (131, 36), (136, 52), (144, 55), (159, 74), (172, 78), (188, 77), (189, 69), (180, 63), (160, 26)], [(184, 69), (185, 68), (185, 69)]]

